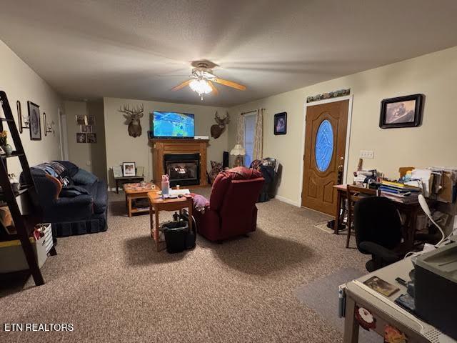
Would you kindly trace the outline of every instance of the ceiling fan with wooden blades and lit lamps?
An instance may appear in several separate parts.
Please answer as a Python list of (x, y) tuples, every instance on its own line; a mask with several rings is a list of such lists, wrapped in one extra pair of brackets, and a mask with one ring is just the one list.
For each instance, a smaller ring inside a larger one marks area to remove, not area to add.
[(216, 86), (214, 86), (214, 82), (216, 82), (216, 84), (224, 84), (224, 86), (229, 86), (240, 91), (246, 90), (246, 86), (243, 86), (242, 84), (220, 79), (216, 76), (213, 73), (213, 68), (218, 65), (211, 61), (193, 61), (191, 65), (194, 67), (191, 76), (189, 76), (191, 79), (181, 82), (178, 86), (174, 86), (171, 89), (172, 91), (179, 91), (179, 89), (189, 86), (193, 91), (199, 94), (201, 101), (203, 101), (204, 94), (209, 94), (211, 92), (219, 94)]

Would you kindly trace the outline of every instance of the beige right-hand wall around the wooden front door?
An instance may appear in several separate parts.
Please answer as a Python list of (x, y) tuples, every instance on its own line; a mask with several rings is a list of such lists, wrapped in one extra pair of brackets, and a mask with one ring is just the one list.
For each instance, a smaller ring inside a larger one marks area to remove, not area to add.
[[(457, 166), (457, 110), (454, 103), (457, 81), (457, 46), (322, 82), (294, 91), (229, 109), (236, 114), (263, 107), (263, 155), (279, 159), (283, 165), (280, 199), (300, 203), (304, 106), (306, 96), (351, 88), (353, 111), (348, 172), (356, 169), (360, 150), (373, 150), (374, 159), (365, 159), (363, 168), (377, 168), (386, 176), (398, 177), (398, 166)], [(423, 123), (416, 128), (380, 129), (382, 99), (421, 93), (425, 95)], [(273, 135), (273, 115), (287, 112), (287, 134)], [(229, 127), (229, 145), (236, 128)], [(351, 181), (348, 179), (348, 181)]]

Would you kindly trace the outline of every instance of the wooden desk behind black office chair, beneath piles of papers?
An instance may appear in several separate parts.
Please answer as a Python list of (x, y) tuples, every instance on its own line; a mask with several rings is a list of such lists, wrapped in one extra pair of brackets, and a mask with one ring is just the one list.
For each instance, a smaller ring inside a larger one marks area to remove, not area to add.
[[(346, 184), (338, 184), (333, 186), (336, 189), (336, 212), (335, 212), (335, 224), (333, 225), (333, 232), (338, 234), (341, 224), (343, 224), (344, 202), (347, 199)], [(382, 197), (382, 195), (381, 195)], [(420, 209), (418, 202), (403, 203), (392, 200), (396, 205), (398, 211), (406, 214), (406, 222), (403, 226), (403, 239), (405, 239), (407, 247), (413, 247), (414, 234), (416, 233), (416, 219)]]

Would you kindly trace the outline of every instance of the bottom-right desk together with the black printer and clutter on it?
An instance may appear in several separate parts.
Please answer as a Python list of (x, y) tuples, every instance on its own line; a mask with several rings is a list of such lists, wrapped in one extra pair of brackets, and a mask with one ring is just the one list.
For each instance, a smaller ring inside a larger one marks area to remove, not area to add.
[(359, 326), (384, 342), (457, 342), (456, 287), (452, 240), (343, 284), (338, 294), (343, 342), (357, 342)]

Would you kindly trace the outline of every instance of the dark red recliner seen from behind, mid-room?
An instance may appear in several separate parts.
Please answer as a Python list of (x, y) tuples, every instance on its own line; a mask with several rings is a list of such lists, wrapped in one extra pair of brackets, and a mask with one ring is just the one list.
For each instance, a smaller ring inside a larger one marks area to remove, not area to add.
[(238, 166), (220, 172), (204, 212), (194, 211), (197, 232), (222, 241), (256, 230), (256, 201), (265, 180), (261, 172)]

